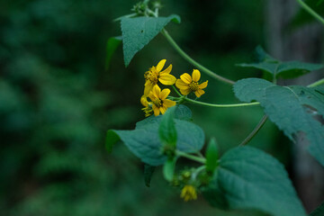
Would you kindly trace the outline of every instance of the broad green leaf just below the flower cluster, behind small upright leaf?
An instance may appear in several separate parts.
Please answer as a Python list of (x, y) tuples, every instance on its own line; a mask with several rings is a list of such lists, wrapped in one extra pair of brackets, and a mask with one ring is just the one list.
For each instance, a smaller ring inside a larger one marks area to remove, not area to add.
[[(176, 112), (175, 112), (176, 113)], [(176, 115), (175, 115), (176, 118)], [(135, 130), (108, 130), (110, 136), (106, 139), (106, 146), (121, 139), (130, 151), (150, 166), (165, 163), (166, 156), (162, 154), (163, 144), (158, 138), (158, 127), (162, 116), (152, 117), (149, 121), (138, 122)], [(186, 153), (199, 151), (204, 143), (202, 129), (189, 121), (175, 119), (177, 134), (176, 149)], [(113, 139), (109, 139), (113, 138)]]

